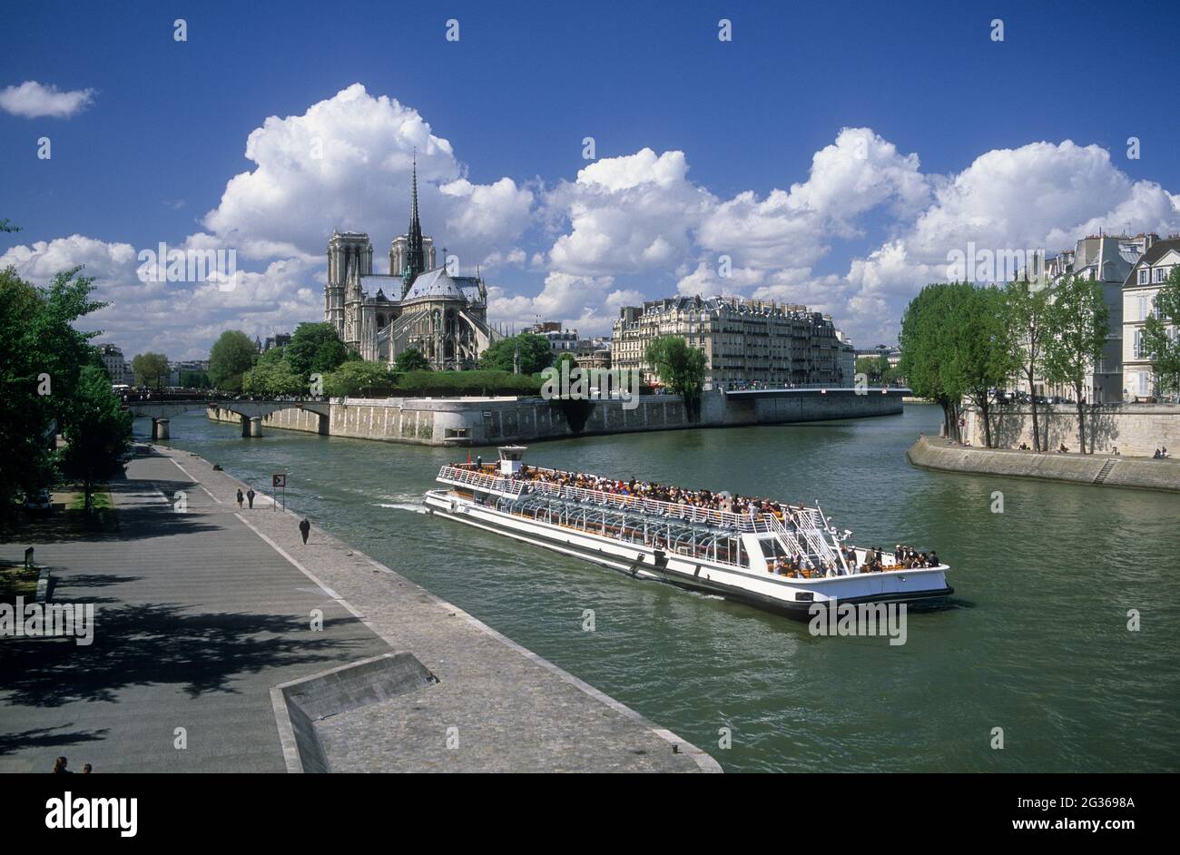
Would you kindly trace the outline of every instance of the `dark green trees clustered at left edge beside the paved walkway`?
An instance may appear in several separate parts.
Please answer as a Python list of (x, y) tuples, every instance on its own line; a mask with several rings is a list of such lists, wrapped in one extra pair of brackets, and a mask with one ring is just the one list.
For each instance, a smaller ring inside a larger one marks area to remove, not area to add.
[[(111, 390), (111, 379), (74, 322), (101, 309), (91, 300), (93, 279), (80, 268), (39, 288), (13, 268), (0, 271), (0, 517), (21, 494), (50, 489), (64, 476), (84, 487), (86, 509), (94, 487), (119, 469), (131, 440), (131, 414)], [(65, 439), (57, 448), (55, 435)]]

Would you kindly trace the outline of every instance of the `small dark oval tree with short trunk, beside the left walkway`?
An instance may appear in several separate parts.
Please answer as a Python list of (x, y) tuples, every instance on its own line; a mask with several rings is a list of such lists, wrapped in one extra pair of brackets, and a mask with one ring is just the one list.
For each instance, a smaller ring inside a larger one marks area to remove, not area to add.
[(94, 486), (119, 472), (119, 458), (131, 442), (131, 417), (111, 392), (106, 371), (84, 368), (61, 435), (63, 462), (83, 484), (86, 513), (93, 507)]

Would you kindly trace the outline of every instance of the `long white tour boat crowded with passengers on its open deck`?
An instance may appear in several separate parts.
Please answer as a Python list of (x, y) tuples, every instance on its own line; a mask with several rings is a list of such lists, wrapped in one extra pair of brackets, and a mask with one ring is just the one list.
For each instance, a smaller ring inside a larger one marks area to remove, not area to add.
[[(815, 603), (914, 603), (953, 593), (945, 564), (894, 567), (894, 555), (883, 552), (884, 570), (859, 571), (866, 548), (848, 545), (851, 532), (839, 532), (818, 506), (734, 513), (585, 489), (553, 482), (570, 473), (525, 466), (525, 450), (504, 446), (496, 465), (442, 466), (437, 480), (444, 487), (426, 492), (427, 511), (635, 578), (802, 619)], [(791, 558), (798, 572), (775, 570)]]

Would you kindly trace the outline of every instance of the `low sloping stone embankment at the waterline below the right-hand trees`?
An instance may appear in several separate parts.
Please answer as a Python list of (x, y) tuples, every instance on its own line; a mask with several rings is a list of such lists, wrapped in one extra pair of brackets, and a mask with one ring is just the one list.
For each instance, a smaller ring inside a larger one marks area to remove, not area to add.
[(905, 456), (913, 466), (942, 472), (1180, 492), (1180, 461), (1175, 460), (978, 448), (939, 436), (920, 438)]

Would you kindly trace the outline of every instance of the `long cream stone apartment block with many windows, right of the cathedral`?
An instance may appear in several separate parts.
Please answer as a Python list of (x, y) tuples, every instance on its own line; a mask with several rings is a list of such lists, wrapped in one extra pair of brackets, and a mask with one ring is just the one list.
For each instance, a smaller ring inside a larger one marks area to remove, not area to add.
[(610, 338), (612, 368), (642, 371), (650, 341), (677, 335), (704, 351), (709, 386), (851, 386), (854, 351), (832, 318), (805, 305), (742, 297), (670, 297), (620, 310)]

